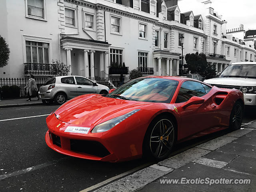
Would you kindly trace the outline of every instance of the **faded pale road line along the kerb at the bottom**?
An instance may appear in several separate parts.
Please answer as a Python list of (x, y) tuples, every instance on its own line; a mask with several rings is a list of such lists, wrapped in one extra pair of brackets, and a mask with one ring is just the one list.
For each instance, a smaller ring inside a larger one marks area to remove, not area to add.
[(96, 189), (96, 188), (99, 188), (99, 187), (101, 187), (101, 186), (104, 186), (104, 185), (106, 185), (106, 184), (112, 182), (113, 180), (117, 180), (117, 179), (120, 179), (120, 178), (122, 178), (122, 177), (124, 177), (124, 176), (126, 176), (126, 175), (130, 175), (130, 174), (132, 174), (133, 172), (135, 172), (135, 171), (137, 171), (137, 170), (140, 170), (141, 168), (147, 167), (147, 166), (149, 166), (149, 165), (150, 165), (150, 163), (143, 164), (143, 165), (138, 166), (138, 167), (136, 167), (136, 168), (134, 168), (134, 169), (132, 169), (132, 170), (126, 171), (126, 172), (121, 173), (121, 174), (119, 174), (119, 175), (117, 175), (117, 176), (114, 176), (114, 177), (109, 178), (109, 179), (107, 179), (107, 180), (105, 180), (105, 181), (102, 181), (102, 182), (100, 182), (100, 183), (98, 183), (98, 184), (96, 184), (96, 185), (90, 186), (90, 187), (88, 187), (88, 188), (86, 188), (86, 189), (84, 189), (84, 190), (82, 190), (82, 191), (80, 191), (80, 192), (88, 192), (88, 191), (94, 190), (94, 189)]

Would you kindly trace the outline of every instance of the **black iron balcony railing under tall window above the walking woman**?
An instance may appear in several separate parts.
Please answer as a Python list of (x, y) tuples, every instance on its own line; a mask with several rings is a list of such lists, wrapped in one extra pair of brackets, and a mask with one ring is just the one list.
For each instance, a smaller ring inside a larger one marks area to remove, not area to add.
[(57, 73), (55, 64), (49, 63), (24, 63), (24, 74), (54, 75)]

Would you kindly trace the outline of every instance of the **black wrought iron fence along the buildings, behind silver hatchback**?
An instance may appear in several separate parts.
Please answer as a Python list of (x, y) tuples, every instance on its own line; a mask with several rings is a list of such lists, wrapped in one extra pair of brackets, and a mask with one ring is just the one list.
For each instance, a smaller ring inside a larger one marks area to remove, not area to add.
[[(0, 78), (0, 91), (4, 99), (10, 98), (24, 98), (26, 97), (26, 89), (24, 88), (28, 83), (29, 78)], [(35, 78), (38, 89), (44, 84), (48, 77)], [(116, 89), (120, 85), (130, 80), (130, 77), (108, 77), (108, 78), (89, 78), (90, 80), (108, 86), (110, 89)]]

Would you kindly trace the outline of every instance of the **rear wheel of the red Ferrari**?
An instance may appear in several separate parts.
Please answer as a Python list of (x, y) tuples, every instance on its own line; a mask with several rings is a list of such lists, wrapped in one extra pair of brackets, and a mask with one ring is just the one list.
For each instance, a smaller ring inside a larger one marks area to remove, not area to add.
[(244, 115), (244, 105), (241, 102), (236, 102), (230, 114), (229, 128), (230, 130), (238, 130), (241, 128)]

